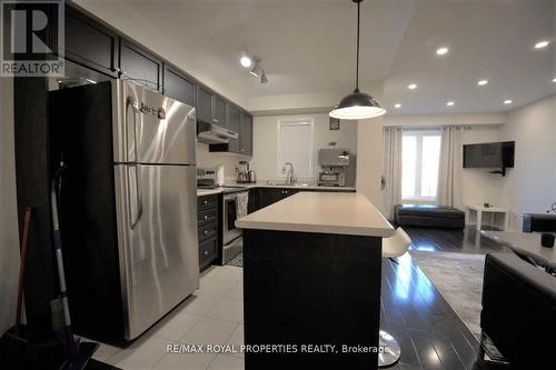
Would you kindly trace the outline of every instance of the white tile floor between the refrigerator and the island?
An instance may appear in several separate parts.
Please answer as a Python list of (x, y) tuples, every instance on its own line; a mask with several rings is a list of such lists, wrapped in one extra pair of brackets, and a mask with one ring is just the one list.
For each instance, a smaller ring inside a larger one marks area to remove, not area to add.
[(93, 358), (131, 370), (244, 369), (242, 353), (167, 353), (171, 343), (235, 344), (244, 342), (242, 269), (211, 267), (201, 273), (200, 289), (126, 349), (101, 344)]

